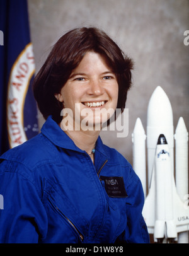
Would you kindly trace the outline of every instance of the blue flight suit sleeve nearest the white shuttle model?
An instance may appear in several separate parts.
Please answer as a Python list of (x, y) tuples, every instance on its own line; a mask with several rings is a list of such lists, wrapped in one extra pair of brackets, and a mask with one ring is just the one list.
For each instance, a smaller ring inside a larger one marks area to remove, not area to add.
[(134, 170), (130, 172), (127, 191), (127, 228), (122, 239), (127, 243), (149, 243), (149, 233), (142, 216), (144, 192), (139, 177)]

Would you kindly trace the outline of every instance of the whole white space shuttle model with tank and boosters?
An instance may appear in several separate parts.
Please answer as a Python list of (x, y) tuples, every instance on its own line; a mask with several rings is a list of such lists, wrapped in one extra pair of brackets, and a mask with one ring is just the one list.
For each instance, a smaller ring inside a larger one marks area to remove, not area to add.
[(174, 134), (171, 103), (160, 86), (149, 100), (147, 135), (138, 118), (132, 143), (133, 167), (146, 197), (142, 215), (149, 233), (157, 243), (188, 243), (188, 132), (180, 117)]

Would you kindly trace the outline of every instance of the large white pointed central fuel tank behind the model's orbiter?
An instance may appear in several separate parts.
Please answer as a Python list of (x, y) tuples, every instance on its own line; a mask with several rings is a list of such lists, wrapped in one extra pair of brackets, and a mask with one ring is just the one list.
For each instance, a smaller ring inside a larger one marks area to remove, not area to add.
[(173, 111), (169, 98), (164, 90), (157, 86), (152, 93), (147, 108), (147, 166), (148, 166), (148, 185), (151, 180), (154, 155), (159, 134), (166, 137), (171, 156), (171, 165), (174, 166), (173, 158)]

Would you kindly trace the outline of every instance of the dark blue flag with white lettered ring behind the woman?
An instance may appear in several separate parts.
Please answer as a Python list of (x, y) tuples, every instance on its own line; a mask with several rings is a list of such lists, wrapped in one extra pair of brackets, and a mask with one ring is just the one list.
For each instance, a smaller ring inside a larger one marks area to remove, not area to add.
[(35, 61), (26, 0), (0, 0), (0, 30), (2, 154), (38, 134), (37, 105), (31, 90)]

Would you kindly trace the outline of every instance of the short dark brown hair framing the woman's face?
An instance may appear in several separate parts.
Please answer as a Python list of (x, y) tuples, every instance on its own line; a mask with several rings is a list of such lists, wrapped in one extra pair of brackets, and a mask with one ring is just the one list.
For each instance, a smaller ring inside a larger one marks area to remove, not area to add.
[(117, 108), (123, 112), (131, 86), (133, 62), (105, 32), (94, 27), (83, 27), (60, 37), (34, 79), (34, 96), (45, 119), (52, 115), (55, 122), (62, 120), (60, 112), (63, 105), (54, 95), (60, 93), (72, 71), (89, 51), (105, 56), (112, 67), (118, 81)]

